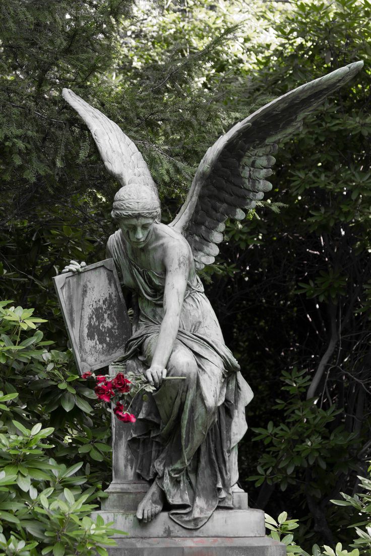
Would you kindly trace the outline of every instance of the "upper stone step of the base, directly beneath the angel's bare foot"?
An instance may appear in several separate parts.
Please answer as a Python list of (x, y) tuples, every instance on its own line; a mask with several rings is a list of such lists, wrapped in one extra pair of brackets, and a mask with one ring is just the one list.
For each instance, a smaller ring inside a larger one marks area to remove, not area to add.
[[(211, 518), (200, 529), (186, 529), (175, 523), (169, 513), (161, 512), (149, 523), (143, 523), (132, 512), (117, 512), (115, 510), (101, 510), (92, 514), (97, 515), (105, 523), (115, 523), (115, 529), (128, 533), (131, 539), (154, 538), (204, 538), (204, 537), (264, 537), (265, 524), (263, 510), (215, 510)], [(127, 538), (126, 535), (116, 534), (113, 538)]]

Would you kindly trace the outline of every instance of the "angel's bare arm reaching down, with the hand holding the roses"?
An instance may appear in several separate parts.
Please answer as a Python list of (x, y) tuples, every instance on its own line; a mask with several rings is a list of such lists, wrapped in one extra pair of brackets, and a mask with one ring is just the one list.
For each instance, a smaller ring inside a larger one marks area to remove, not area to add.
[(185, 242), (169, 244), (165, 252), (166, 280), (164, 291), (164, 319), (162, 319), (152, 364), (147, 378), (155, 385), (161, 384), (166, 376), (166, 365), (170, 358), (177, 332), (180, 312), (187, 287), (190, 270), (190, 250)]

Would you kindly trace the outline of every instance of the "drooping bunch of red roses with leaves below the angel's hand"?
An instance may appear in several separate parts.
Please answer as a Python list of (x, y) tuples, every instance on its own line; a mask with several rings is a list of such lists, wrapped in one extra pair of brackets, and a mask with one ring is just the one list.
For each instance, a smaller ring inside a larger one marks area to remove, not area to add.
[(146, 393), (155, 390), (144, 375), (135, 373), (117, 373), (116, 376), (98, 375), (86, 371), (81, 378), (95, 378), (96, 386), (94, 388), (98, 400), (107, 404), (115, 404), (113, 413), (117, 419), (123, 423), (135, 423), (136, 417), (130, 413), (133, 400), (138, 394), (142, 394), (146, 399)]

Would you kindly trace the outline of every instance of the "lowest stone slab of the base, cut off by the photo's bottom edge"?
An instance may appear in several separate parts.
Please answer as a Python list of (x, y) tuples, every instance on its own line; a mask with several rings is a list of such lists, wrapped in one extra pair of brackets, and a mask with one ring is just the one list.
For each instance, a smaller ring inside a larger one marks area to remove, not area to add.
[(267, 537), (116, 539), (110, 556), (285, 556), (286, 546)]

